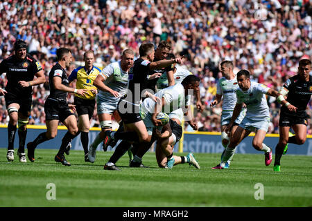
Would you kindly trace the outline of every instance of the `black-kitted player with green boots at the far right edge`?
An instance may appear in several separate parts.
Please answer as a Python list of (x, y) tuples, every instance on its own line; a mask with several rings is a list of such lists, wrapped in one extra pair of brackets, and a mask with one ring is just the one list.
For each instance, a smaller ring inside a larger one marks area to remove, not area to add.
[[(286, 99), (286, 106), (281, 107), (279, 117), (279, 143), (275, 148), (274, 171), (281, 171), (281, 156), (286, 153), (288, 143), (302, 145), (306, 141), (306, 126), (309, 115), (306, 114), (306, 106), (309, 104), (312, 94), (311, 61), (301, 59), (299, 61), (298, 74), (289, 78), (281, 88), (281, 97)], [(291, 108), (294, 104), (295, 110)], [(293, 128), (295, 136), (288, 137), (289, 129)]]

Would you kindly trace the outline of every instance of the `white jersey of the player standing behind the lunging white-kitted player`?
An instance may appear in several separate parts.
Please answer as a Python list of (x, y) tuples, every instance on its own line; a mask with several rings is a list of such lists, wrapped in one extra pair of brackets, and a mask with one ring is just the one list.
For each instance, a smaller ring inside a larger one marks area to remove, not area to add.
[(236, 76), (234, 79), (221, 77), (217, 84), (217, 95), (223, 95), (223, 111), (233, 111), (236, 105), (236, 90), (239, 88)]

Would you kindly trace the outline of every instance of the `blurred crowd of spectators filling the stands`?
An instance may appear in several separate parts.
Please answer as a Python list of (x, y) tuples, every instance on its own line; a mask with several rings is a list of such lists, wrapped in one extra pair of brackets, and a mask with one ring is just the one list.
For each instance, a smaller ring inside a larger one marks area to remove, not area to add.
[[(142, 43), (157, 47), (165, 40), (171, 42), (176, 56), (184, 55), (184, 66), (201, 79), (205, 111), (194, 110), (199, 131), (220, 131), (221, 104), (209, 106), (221, 77), (220, 61), (231, 60), (234, 73), (248, 69), (252, 81), (279, 90), (296, 75), (298, 59), (312, 55), (311, 14), (309, 0), (0, 1), (0, 61), (12, 55), (16, 39), (23, 39), (28, 53), (41, 62), (46, 84), (33, 86), (30, 124), (43, 125), (48, 75), (57, 48), (72, 50), (70, 74), (84, 65), (86, 50), (94, 50), (95, 65), (103, 68), (117, 61), (125, 48), (132, 48), (139, 57)], [(6, 75), (1, 75), (0, 87), (5, 84)], [(68, 98), (73, 102), (72, 94)], [(279, 104), (272, 97), (268, 104), (268, 133), (279, 133)], [(311, 106), (312, 102), (307, 108), (310, 116)], [(7, 123), (4, 97), (0, 97), (0, 124)], [(99, 126), (96, 111), (92, 126)], [(192, 131), (187, 124), (184, 129)], [(312, 134), (311, 119), (308, 133)]]

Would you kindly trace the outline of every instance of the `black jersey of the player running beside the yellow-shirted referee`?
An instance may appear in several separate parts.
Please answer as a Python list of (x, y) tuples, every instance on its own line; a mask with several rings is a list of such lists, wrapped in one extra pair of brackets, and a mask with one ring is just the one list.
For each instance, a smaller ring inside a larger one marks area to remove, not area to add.
[(52, 67), (52, 69), (49, 73), (49, 86), (50, 86), (49, 97), (66, 102), (67, 101), (67, 92), (63, 91), (63, 90), (57, 90), (54, 88), (53, 77), (62, 78), (62, 84), (64, 84), (64, 86), (69, 86), (69, 80), (68, 80), (66, 71), (58, 63)]

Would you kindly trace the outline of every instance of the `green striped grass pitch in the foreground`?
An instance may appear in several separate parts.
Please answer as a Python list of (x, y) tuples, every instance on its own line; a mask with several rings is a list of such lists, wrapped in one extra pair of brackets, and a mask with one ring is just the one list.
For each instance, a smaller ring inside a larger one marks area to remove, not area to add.
[[(220, 154), (195, 153), (200, 170), (189, 164), (159, 169), (151, 152), (143, 158), (150, 168), (130, 168), (125, 154), (117, 162), (121, 171), (104, 171), (112, 152), (98, 151), (91, 164), (84, 161), (83, 151), (71, 151), (66, 157), (72, 166), (54, 162), (57, 150), (37, 149), (36, 161), (26, 164), (16, 153), (9, 163), (6, 148), (0, 148), (0, 206), (312, 206), (311, 156), (284, 155), (277, 173), (273, 162), (265, 166), (262, 154), (236, 154), (231, 168), (224, 170), (211, 169)], [(49, 183), (55, 184), (55, 200), (46, 199)], [(255, 199), (259, 183), (263, 200)]]

